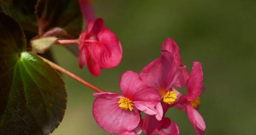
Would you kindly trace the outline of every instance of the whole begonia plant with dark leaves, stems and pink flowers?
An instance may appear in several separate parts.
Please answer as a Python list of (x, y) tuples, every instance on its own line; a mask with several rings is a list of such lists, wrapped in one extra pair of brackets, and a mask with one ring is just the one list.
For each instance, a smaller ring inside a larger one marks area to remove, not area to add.
[[(92, 114), (106, 132), (179, 135), (177, 122), (166, 116), (174, 107), (186, 111), (197, 135), (204, 134), (198, 112), (205, 89), (202, 64), (193, 62), (189, 74), (173, 39), (162, 43), (161, 56), (139, 74), (124, 72), (121, 93), (115, 93), (57, 65), (50, 53), (52, 45), (64, 46), (77, 56), (77, 67), (86, 66), (95, 77), (121, 63), (121, 41), (95, 17), (91, 0), (1, 0), (0, 31), (0, 135), (48, 135), (59, 126), (67, 90), (57, 71), (95, 91)], [(186, 94), (178, 90), (184, 87)]]

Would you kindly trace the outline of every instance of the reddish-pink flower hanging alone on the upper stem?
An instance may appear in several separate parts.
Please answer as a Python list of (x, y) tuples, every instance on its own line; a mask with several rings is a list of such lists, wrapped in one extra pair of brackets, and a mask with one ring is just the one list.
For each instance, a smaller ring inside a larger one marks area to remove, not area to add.
[(88, 25), (79, 37), (79, 67), (85, 64), (94, 76), (102, 68), (114, 68), (122, 59), (121, 43), (115, 33), (105, 28), (103, 19), (97, 18)]

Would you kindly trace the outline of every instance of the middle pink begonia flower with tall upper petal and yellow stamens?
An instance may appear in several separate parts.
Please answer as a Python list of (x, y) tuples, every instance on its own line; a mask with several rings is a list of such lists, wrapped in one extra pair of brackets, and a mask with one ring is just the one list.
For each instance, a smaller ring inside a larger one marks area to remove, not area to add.
[[(149, 63), (140, 73), (141, 79), (154, 88), (163, 98), (165, 104), (176, 104), (179, 98), (173, 86), (186, 86), (188, 80), (186, 66), (182, 65), (179, 47), (170, 38), (162, 44), (162, 56)], [(163, 116), (162, 105), (156, 105), (158, 113), (155, 115), (157, 120)]]

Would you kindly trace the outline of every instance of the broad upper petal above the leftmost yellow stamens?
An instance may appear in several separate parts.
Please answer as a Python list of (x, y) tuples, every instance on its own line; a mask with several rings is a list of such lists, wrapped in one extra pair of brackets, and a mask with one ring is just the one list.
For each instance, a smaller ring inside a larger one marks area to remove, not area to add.
[(122, 74), (120, 89), (125, 97), (132, 101), (143, 102), (151, 107), (155, 107), (161, 99), (155, 89), (146, 85), (139, 75), (133, 71), (127, 71)]

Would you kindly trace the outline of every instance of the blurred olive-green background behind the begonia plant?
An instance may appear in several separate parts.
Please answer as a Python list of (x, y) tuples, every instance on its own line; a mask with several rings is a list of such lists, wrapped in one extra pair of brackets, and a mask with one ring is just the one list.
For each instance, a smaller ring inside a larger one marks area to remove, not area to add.
[[(106, 91), (120, 92), (121, 74), (140, 72), (172, 37), (189, 72), (193, 61), (202, 62), (206, 90), (199, 112), (206, 135), (256, 135), (256, 0), (94, 0), (93, 6), (121, 41), (121, 64), (96, 78), (55, 45), (61, 66)], [(63, 78), (67, 110), (52, 135), (109, 135), (94, 121), (93, 91)], [(180, 135), (195, 135), (185, 112), (173, 108), (167, 116), (179, 125)]]

